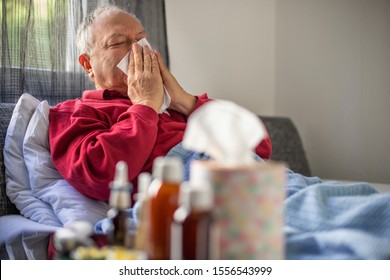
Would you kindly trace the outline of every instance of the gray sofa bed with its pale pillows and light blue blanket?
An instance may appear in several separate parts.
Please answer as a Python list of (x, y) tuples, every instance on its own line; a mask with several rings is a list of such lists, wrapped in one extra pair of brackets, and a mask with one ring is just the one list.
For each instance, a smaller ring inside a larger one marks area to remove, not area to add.
[[(108, 206), (82, 196), (54, 168), (47, 102), (23, 94), (0, 110), (1, 259), (47, 259), (55, 230), (77, 220), (99, 223)], [(313, 176), (292, 121), (260, 118), (272, 160), (288, 165), (286, 259), (390, 259), (390, 185)]]

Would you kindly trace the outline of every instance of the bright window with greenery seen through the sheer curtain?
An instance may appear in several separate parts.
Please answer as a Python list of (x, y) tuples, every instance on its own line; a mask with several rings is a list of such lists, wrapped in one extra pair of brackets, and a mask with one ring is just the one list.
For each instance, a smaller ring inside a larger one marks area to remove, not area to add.
[(6, 48), (2, 55), (10, 67), (60, 70), (53, 64), (53, 58), (65, 58), (70, 38), (61, 34), (67, 33), (70, 3), (65, 0), (3, 1), (0, 12), (6, 38), (2, 39), (7, 43), (2, 44), (2, 48)]

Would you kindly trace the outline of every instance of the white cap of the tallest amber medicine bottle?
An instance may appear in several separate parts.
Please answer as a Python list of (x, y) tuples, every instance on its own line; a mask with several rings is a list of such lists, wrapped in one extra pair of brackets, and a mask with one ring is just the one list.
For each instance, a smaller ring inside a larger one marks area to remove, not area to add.
[(153, 177), (163, 182), (181, 183), (184, 177), (183, 163), (179, 158), (158, 157), (153, 163)]

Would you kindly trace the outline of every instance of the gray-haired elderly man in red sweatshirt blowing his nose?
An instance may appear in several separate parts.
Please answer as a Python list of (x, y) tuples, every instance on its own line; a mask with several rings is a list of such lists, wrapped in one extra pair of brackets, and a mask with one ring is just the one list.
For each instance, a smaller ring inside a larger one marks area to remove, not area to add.
[[(150, 172), (156, 157), (182, 141), (188, 116), (210, 101), (183, 90), (159, 53), (136, 43), (146, 37), (134, 15), (112, 5), (92, 12), (79, 28), (79, 62), (96, 90), (51, 109), (49, 140), (59, 172), (88, 197), (108, 200), (120, 160), (136, 185), (139, 173)], [(130, 50), (125, 75), (117, 64)], [(168, 114), (158, 114), (164, 86), (171, 104)], [(269, 158), (269, 138), (256, 153)]]

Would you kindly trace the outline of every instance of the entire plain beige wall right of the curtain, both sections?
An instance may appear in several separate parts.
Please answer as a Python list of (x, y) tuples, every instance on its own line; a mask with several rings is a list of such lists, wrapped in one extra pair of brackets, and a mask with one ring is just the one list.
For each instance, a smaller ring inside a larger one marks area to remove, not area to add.
[(187, 90), (292, 118), (317, 176), (390, 183), (390, 1), (165, 2)]

